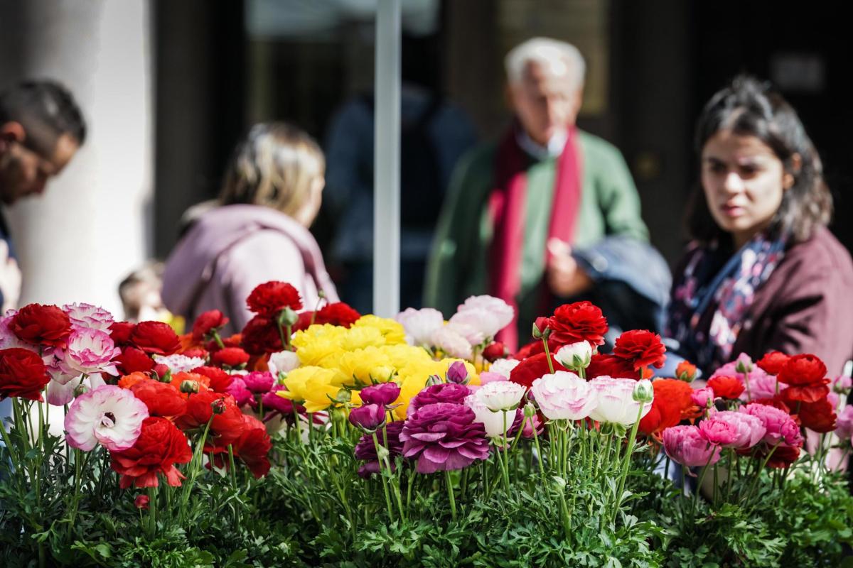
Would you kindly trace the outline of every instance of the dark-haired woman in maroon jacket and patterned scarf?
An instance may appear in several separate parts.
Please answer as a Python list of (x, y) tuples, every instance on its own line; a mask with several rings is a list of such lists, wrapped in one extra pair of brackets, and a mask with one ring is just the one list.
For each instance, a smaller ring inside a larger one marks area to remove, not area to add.
[(696, 129), (693, 239), (676, 268), (668, 333), (706, 373), (747, 353), (814, 353), (839, 374), (853, 355), (853, 262), (827, 230), (821, 159), (786, 100), (738, 77)]

